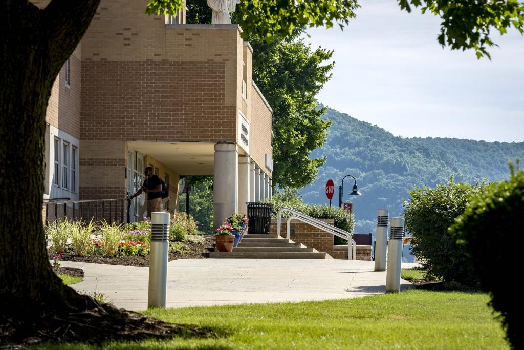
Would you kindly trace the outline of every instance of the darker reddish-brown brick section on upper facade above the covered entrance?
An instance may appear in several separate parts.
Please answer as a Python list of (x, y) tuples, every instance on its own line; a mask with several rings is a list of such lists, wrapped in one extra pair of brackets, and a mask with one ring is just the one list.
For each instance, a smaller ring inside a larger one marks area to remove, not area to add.
[(234, 142), (224, 74), (222, 62), (84, 61), (80, 138)]

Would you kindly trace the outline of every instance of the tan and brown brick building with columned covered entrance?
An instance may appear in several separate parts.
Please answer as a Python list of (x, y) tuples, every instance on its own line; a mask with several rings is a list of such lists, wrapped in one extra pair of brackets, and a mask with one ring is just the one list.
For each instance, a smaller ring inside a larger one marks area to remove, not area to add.
[[(181, 175), (214, 175), (216, 226), (271, 196), (272, 111), (252, 80), (253, 49), (238, 25), (147, 16), (147, 3), (102, 0), (54, 82), (45, 198), (124, 198), (151, 165), (172, 209)], [(130, 214), (139, 219), (138, 198)]]

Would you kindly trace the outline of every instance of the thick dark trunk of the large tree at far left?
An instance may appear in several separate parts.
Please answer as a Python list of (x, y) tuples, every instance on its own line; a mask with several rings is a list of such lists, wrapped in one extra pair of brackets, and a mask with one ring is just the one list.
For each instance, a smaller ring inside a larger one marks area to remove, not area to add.
[(100, 0), (0, 2), (0, 299), (77, 295), (53, 273), (42, 225), (45, 116), (51, 88)]

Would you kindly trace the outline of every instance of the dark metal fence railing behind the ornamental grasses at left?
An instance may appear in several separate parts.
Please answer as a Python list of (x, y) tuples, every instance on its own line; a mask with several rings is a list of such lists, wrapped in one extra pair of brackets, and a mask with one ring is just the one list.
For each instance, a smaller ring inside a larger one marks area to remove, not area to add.
[(129, 198), (70, 200), (70, 198), (44, 199), (43, 219), (45, 225), (57, 218), (84, 222), (105, 220), (109, 223), (127, 224), (130, 215)]

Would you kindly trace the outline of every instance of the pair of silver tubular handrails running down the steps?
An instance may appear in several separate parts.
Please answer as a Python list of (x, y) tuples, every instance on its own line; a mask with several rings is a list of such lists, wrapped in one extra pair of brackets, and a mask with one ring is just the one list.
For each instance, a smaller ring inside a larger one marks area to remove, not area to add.
[(337, 236), (337, 237), (347, 240), (347, 260), (356, 260), (357, 245), (356, 245), (356, 242), (351, 237), (350, 232), (344, 231), (343, 229), (327, 224), (324, 221), (315, 219), (309, 215), (305, 215), (304, 213), (300, 213), (300, 211), (297, 211), (297, 210), (294, 210), (288, 207), (282, 207), (280, 208), (280, 210), (278, 210), (278, 214), (277, 214), (277, 235), (278, 236), (280, 236), (280, 231), (281, 231), (282, 211), (289, 211), (290, 213), (293, 214), (292, 216), (290, 216), (287, 219), (287, 223), (286, 223), (286, 238), (287, 239), (289, 239), (289, 234), (291, 230), (291, 220), (296, 219), (296, 220), (304, 222), (305, 224), (308, 224), (313, 227), (319, 228), (323, 231), (329, 232), (333, 236)]

